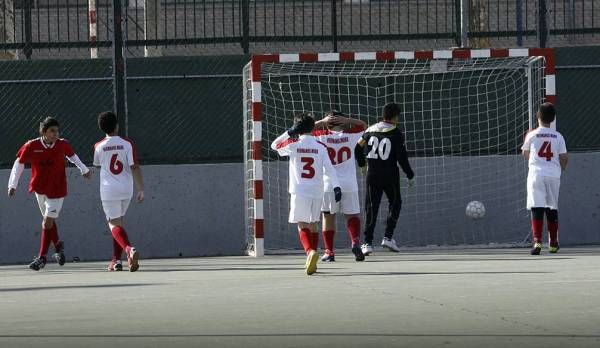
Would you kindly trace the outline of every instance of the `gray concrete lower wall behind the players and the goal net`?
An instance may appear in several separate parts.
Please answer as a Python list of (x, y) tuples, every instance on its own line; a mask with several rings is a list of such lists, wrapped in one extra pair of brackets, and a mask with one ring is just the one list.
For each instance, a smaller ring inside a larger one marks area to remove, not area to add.
[[(600, 172), (600, 153), (571, 154), (569, 168), (565, 172), (560, 196), (560, 239), (563, 245), (600, 243), (600, 188), (597, 177)], [(444, 159), (451, 172), (460, 166)], [(423, 175), (423, 160), (412, 160), (421, 173), (416, 190), (424, 189), (426, 180), (438, 180), (438, 174)], [(457, 162), (457, 161), (455, 161)], [(497, 175), (498, 170), (520, 170), (513, 164), (508, 169), (487, 164), (486, 175)], [(131, 240), (143, 257), (177, 257), (208, 255), (240, 255), (245, 243), (244, 188), (242, 164), (215, 165), (165, 165), (145, 166), (147, 201), (133, 204), (128, 212), (126, 226)], [(462, 185), (477, 183), (472, 173), (463, 175)], [(9, 170), (0, 171), (0, 183), (8, 181)], [(427, 179), (428, 178), (428, 179)], [(40, 233), (40, 214), (35, 198), (26, 194), (29, 170), (24, 174), (17, 197), (0, 197), (0, 263), (26, 262), (37, 253)], [(98, 193), (98, 176), (84, 181), (75, 170), (69, 170), (70, 194), (65, 200), (59, 219), (59, 232), (66, 241), (69, 260), (78, 256), (82, 260), (108, 259), (111, 242), (104, 227), (104, 216)], [(286, 181), (284, 178), (283, 181)], [(522, 190), (525, 182), (513, 183)], [(5, 184), (4, 184), (5, 185)], [(485, 190), (493, 194), (494, 187)], [(267, 191), (267, 189), (265, 189)], [(465, 191), (467, 192), (467, 191)], [(423, 197), (444, 195), (443, 186), (438, 191), (424, 193)], [(466, 194), (466, 193), (462, 193)], [(433, 196), (431, 196), (433, 195)], [(283, 222), (275, 225), (267, 222), (266, 245), (271, 248), (299, 247), (296, 233), (285, 220), (287, 218), (287, 195), (282, 192), (280, 203), (265, 206), (269, 217), (279, 211)], [(480, 196), (481, 197), (481, 196)], [(446, 222), (427, 219), (416, 213), (417, 207), (405, 198), (401, 223), (397, 228), (397, 240), (403, 245), (460, 244), (488, 241), (520, 242), (527, 235), (529, 225), (526, 212), (511, 209), (510, 216), (503, 215), (502, 200), (482, 198), (487, 204), (488, 216), (482, 221), (464, 218), (464, 205), (452, 203), (448, 209), (438, 209)], [(362, 198), (361, 198), (362, 199)], [(475, 198), (473, 198), (475, 199)], [(523, 204), (525, 197), (522, 197)], [(448, 201), (452, 201), (449, 197)], [(514, 204), (514, 202), (511, 202)], [(518, 204), (518, 203), (517, 203)], [(279, 206), (277, 206), (279, 205)], [(382, 205), (382, 213), (387, 208)], [(511, 217), (512, 216), (512, 217)], [(507, 219), (513, 219), (507, 221)], [(380, 226), (382, 224), (379, 224)], [(511, 226), (503, 234), (502, 226)], [(339, 225), (340, 227), (343, 225)], [(380, 237), (381, 230), (376, 236)], [(338, 246), (347, 246), (343, 229), (338, 234)]]

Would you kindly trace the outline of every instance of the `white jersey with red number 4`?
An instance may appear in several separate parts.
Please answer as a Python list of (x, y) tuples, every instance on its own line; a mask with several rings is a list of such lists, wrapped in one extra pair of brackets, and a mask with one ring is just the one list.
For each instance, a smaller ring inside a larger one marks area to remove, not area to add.
[(529, 175), (560, 178), (558, 155), (567, 153), (563, 136), (546, 127), (538, 127), (525, 136), (521, 150), (529, 153)]

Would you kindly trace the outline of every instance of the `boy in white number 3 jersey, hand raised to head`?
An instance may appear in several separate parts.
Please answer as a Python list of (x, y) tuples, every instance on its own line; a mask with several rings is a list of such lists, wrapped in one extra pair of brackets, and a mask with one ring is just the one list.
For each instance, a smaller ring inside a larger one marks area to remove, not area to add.
[(300, 242), (306, 252), (306, 274), (312, 275), (317, 271), (319, 261), (318, 232), (314, 224), (321, 217), (323, 201), (323, 175), (331, 181), (334, 199), (342, 199), (342, 191), (335, 169), (331, 164), (327, 147), (318, 142), (312, 131), (315, 126), (314, 118), (307, 113), (294, 116), (293, 127), (277, 137), (271, 148), (280, 156), (288, 156), (290, 215), (289, 222), (298, 224)]

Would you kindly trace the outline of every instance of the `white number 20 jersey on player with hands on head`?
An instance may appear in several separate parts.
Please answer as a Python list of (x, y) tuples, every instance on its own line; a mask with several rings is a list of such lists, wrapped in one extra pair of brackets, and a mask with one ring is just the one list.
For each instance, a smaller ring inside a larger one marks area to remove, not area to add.
[[(318, 130), (313, 132), (313, 135), (327, 146), (327, 152), (335, 168), (342, 192), (358, 192), (354, 147), (364, 132), (365, 129), (361, 126), (344, 131)], [(325, 191), (332, 191), (333, 186), (327, 175), (324, 180)]]

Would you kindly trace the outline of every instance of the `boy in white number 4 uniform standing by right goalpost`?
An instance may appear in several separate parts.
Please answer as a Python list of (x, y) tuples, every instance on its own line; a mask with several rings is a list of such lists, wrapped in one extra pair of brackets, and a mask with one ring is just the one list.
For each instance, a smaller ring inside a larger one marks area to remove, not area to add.
[(521, 150), (529, 162), (527, 175), (527, 209), (531, 210), (531, 230), (533, 248), (531, 255), (542, 251), (542, 231), (544, 213), (548, 234), (550, 235), (550, 253), (558, 252), (558, 193), (560, 176), (567, 167), (567, 146), (563, 136), (550, 128), (556, 117), (556, 108), (552, 103), (540, 105), (537, 112), (538, 128), (525, 136)]

